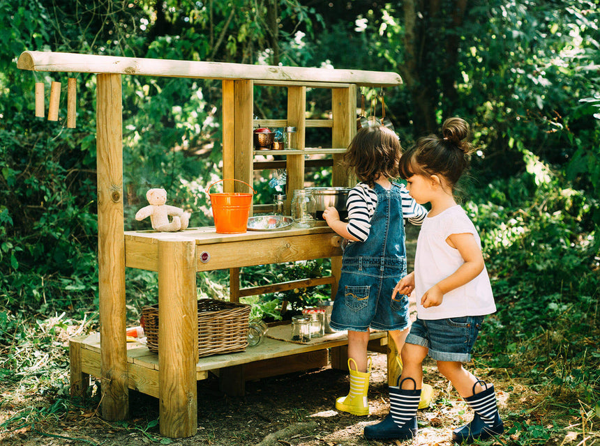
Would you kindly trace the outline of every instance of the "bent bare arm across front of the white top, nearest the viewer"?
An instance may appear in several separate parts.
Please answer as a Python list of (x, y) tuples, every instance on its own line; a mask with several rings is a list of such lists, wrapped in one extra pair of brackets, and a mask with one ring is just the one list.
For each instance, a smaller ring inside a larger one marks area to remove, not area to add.
[(437, 307), (442, 303), (444, 294), (463, 286), (477, 277), (483, 267), (483, 254), (472, 233), (451, 234), (446, 242), (453, 248), (458, 249), (460, 256), (463, 257), (463, 263), (458, 270), (432, 286), (421, 298), (423, 307)]

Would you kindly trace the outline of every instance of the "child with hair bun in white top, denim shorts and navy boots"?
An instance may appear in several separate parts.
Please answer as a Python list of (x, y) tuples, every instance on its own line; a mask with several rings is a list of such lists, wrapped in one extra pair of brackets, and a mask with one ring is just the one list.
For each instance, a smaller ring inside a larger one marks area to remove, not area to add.
[(366, 438), (407, 439), (417, 433), (417, 406), (423, 380), (423, 360), (437, 361), (474, 410), (472, 422), (453, 431), (456, 443), (472, 443), (504, 431), (493, 385), (463, 368), (486, 314), (496, 311), (490, 279), (483, 263), (475, 226), (453, 197), (472, 150), (469, 126), (461, 118), (442, 125), (442, 137), (430, 135), (400, 158), (400, 176), (410, 196), (431, 210), (417, 240), (414, 271), (394, 288), (414, 295), (417, 321), (402, 349), (404, 368), (396, 387), (389, 387), (390, 413), (379, 424), (366, 426)]

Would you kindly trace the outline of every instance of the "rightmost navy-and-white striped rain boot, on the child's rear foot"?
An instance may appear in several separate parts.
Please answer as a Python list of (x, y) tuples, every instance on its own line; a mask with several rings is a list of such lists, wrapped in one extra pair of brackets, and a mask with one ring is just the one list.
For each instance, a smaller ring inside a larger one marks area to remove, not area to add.
[[(486, 386), (482, 380), (477, 380), (477, 383)], [(456, 443), (473, 443), (474, 440), (485, 440), (504, 432), (504, 423), (500, 420), (500, 413), (498, 413), (496, 405), (494, 386), (490, 385), (486, 390), (475, 394), (477, 383), (473, 385), (473, 396), (465, 398), (475, 412), (473, 421), (454, 429), (452, 439)]]

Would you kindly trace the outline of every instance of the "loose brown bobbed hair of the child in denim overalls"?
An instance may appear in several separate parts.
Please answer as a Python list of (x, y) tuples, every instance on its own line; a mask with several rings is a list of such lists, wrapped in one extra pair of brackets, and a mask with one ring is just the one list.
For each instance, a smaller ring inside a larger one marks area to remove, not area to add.
[(402, 147), (396, 133), (383, 125), (361, 128), (343, 155), (343, 165), (370, 187), (380, 176), (396, 178)]

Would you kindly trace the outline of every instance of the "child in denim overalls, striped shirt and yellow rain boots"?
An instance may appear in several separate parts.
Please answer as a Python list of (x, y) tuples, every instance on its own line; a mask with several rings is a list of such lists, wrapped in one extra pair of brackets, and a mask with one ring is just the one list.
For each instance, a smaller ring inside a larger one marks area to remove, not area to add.
[[(404, 220), (421, 224), (423, 206), (403, 185), (392, 183), (398, 174), (400, 141), (384, 126), (361, 128), (344, 154), (344, 164), (361, 181), (347, 199), (348, 223), (334, 207), (324, 210), (327, 224), (345, 238), (338, 293), (330, 326), (348, 330), (350, 392), (336, 400), (336, 408), (368, 415), (370, 362), (369, 330), (386, 330), (401, 351), (410, 326), (408, 298), (393, 287), (406, 275)], [(398, 362), (400, 359), (398, 358)], [(421, 407), (429, 404), (433, 389), (423, 392)]]

